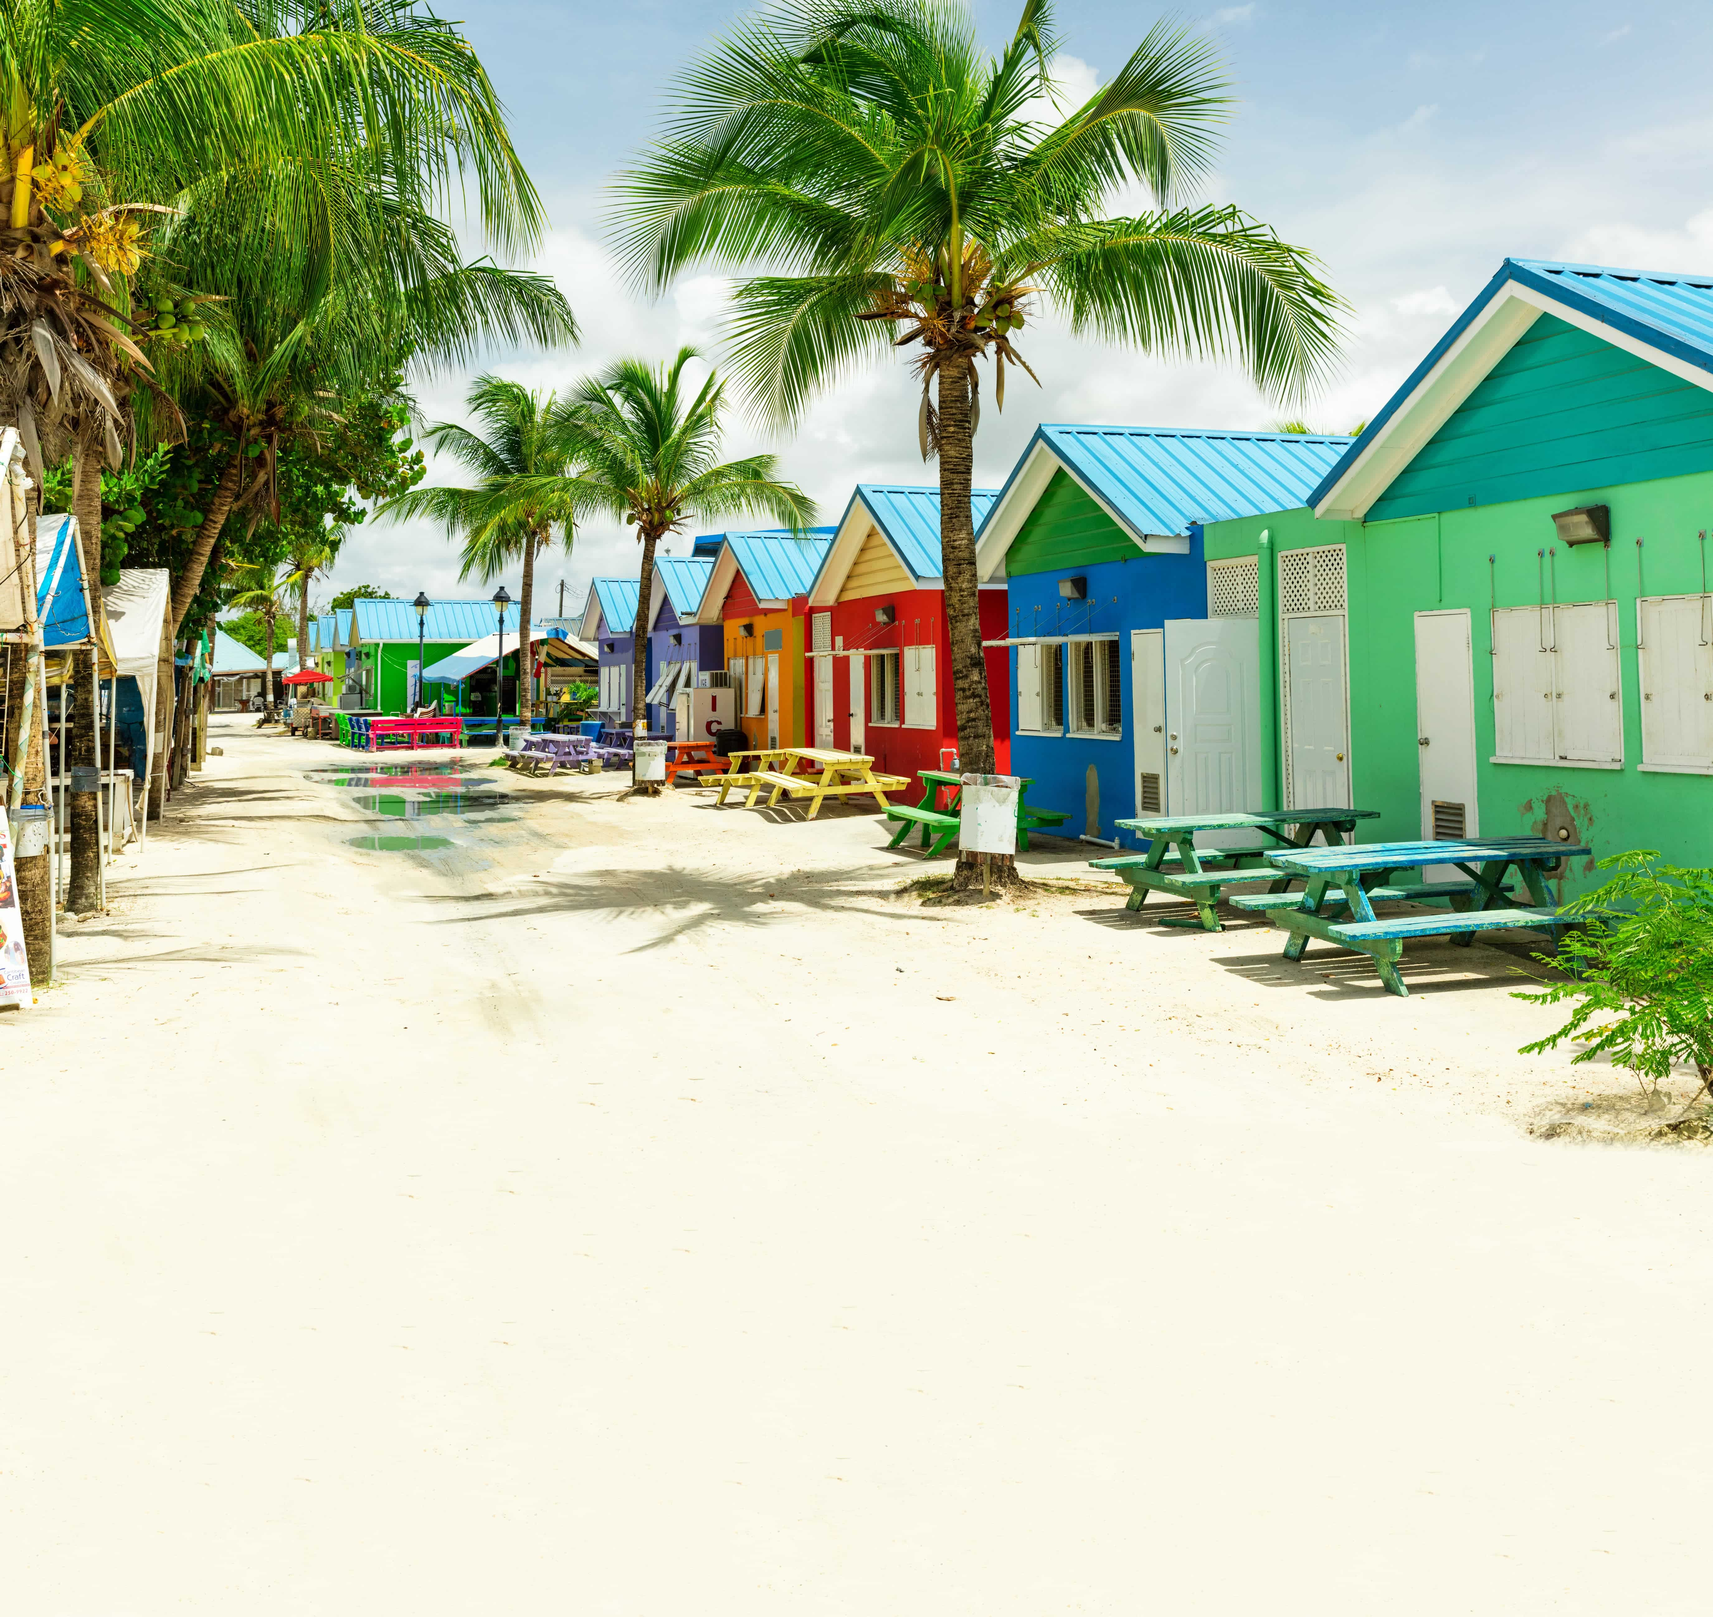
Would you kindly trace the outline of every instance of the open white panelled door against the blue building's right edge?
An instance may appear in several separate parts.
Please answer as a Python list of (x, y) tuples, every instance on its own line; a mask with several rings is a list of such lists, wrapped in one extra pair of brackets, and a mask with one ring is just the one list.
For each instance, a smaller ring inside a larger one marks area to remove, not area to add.
[[(1173, 814), (1259, 807), (1261, 624), (1256, 618), (1170, 618), (1167, 663), (1167, 797)], [(1250, 832), (1213, 832), (1209, 848)]]

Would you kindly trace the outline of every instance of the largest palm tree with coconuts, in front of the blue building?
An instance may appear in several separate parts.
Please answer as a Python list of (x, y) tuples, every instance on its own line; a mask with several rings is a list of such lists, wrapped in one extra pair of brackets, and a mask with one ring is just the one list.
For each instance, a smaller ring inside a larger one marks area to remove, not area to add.
[[(887, 348), (920, 344), (918, 444), (939, 456), (940, 548), (964, 767), (994, 767), (970, 473), (978, 365), (1030, 367), (1016, 334), (1072, 331), (1155, 353), (1237, 355), (1268, 391), (1329, 361), (1341, 300), (1316, 260), (1237, 207), (1179, 197), (1230, 104), (1213, 45), (1153, 27), (1083, 106), (1057, 106), (1047, 0), (992, 57), (966, 5), (786, 0), (680, 81), (665, 139), (618, 182), (615, 224), (654, 288), (738, 272), (733, 368), (776, 421)], [(1141, 182), (1155, 209), (1107, 214)], [(778, 274), (749, 272), (771, 262)], [(973, 860), (959, 862), (968, 880)]]

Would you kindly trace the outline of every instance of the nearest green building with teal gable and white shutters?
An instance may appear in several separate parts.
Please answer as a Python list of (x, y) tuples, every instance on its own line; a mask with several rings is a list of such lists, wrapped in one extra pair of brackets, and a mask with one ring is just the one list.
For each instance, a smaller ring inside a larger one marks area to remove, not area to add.
[(1268, 805), (1713, 865), (1708, 526), (1713, 276), (1507, 259), (1307, 507), (1204, 529)]

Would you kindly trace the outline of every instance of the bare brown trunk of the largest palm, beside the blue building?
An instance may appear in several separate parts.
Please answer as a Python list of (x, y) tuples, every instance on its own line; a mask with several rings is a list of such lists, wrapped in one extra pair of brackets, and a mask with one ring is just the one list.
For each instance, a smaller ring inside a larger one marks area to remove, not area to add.
[[(940, 576), (946, 579), (946, 622), (952, 642), (952, 697), (958, 707), (958, 759), (970, 774), (994, 773), (994, 709), (982, 656), (982, 588), (975, 569), (975, 519), (970, 480), (975, 432), (970, 423), (970, 360), (954, 356), (939, 373), (940, 413)], [(988, 880), (1011, 886), (1016, 862), (988, 860)], [(954, 887), (982, 886), (980, 855), (958, 855)]]

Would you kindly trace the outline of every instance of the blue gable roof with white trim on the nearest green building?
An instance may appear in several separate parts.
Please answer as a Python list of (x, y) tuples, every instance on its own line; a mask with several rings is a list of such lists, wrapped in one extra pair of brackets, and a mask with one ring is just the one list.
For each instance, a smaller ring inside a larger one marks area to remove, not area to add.
[(1316, 516), (1362, 521), (1543, 313), (1713, 391), (1713, 276), (1506, 259), (1309, 495)]

